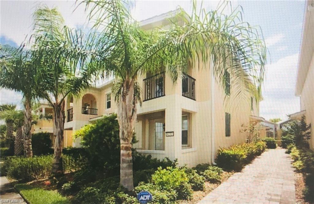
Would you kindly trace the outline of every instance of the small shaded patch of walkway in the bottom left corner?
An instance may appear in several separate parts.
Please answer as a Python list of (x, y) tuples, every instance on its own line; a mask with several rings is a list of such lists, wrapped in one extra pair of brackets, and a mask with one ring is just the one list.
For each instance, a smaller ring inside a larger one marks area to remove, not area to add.
[(0, 177), (0, 197), (1, 203), (26, 203), (5, 176)]

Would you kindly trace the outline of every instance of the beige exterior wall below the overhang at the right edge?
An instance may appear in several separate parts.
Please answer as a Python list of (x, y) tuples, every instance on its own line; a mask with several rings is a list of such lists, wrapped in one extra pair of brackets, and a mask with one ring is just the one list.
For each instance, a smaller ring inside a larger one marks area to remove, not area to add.
[[(301, 110), (306, 110), (306, 123), (314, 126), (314, 55), (312, 56), (311, 64), (304, 82), (300, 105)], [(310, 146), (314, 149), (314, 128), (311, 128)]]

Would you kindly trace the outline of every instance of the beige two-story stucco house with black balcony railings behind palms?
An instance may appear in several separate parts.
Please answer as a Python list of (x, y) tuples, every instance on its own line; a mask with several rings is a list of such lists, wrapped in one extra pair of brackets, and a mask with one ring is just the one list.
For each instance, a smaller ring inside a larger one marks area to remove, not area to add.
[[(144, 29), (168, 26), (170, 21), (166, 19), (173, 13), (149, 18), (141, 26)], [(243, 101), (228, 101), (233, 97), (232, 76), (223, 89), (208, 68), (190, 67), (176, 83), (164, 72), (138, 76), (143, 99), (142, 106), (137, 107), (134, 130), (138, 140), (134, 147), (138, 152), (195, 166), (213, 162), (220, 147), (246, 141), (241, 125), (249, 124), (251, 116), (259, 116), (259, 102), (252, 96)], [(85, 90), (78, 98), (65, 99), (65, 137), (71, 137), (73, 131), (103, 115), (116, 112), (111, 94), (113, 80)], [(73, 146), (79, 145), (80, 139), (73, 139)]]

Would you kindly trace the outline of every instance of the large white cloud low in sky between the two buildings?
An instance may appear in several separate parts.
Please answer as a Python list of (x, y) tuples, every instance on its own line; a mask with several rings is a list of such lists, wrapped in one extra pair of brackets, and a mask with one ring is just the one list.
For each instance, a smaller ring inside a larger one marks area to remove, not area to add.
[(300, 99), (295, 97), (295, 79), (299, 54), (286, 56), (267, 65), (260, 115), (266, 119), (287, 119), (286, 115), (300, 111)]

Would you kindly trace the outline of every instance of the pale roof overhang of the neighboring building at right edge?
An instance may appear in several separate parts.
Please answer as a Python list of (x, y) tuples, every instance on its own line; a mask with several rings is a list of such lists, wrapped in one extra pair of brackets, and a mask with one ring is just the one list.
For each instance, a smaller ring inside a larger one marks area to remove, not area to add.
[(305, 2), (295, 95), (300, 96), (314, 55), (314, 0)]

